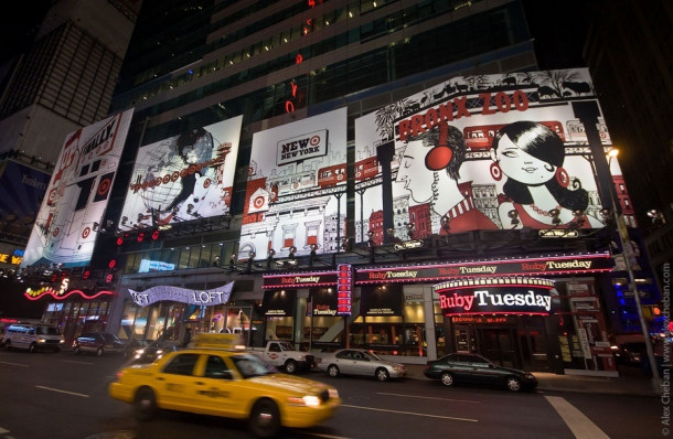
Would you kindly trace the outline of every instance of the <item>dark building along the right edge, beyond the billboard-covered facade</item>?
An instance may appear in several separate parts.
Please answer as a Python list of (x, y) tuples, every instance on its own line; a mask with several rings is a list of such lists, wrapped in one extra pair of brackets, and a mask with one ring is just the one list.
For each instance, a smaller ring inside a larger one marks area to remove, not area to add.
[(673, 6), (598, 1), (589, 11), (585, 58), (663, 282), (663, 265), (673, 260), (673, 128), (667, 122), (673, 117)]

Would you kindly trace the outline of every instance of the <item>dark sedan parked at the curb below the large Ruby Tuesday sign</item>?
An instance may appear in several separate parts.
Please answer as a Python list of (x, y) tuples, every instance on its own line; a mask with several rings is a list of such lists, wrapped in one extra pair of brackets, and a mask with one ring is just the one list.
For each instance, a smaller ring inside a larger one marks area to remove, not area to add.
[(448, 354), (429, 361), (424, 375), (430, 379), (441, 381), (445, 386), (485, 384), (504, 386), (512, 392), (533, 389), (537, 386), (537, 378), (528, 372), (496, 366), (481, 355), (468, 353)]

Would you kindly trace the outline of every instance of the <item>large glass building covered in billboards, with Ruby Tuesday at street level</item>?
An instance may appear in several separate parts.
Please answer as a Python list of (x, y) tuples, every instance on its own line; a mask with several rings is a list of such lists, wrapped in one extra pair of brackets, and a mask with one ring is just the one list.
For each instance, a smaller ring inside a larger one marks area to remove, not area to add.
[[(146, 0), (115, 183), (87, 186), (109, 203), (68, 223), (96, 236), (89, 266), (77, 245), (64, 265), (90, 306), (45, 318), (615, 375), (608, 333), (631, 326), (592, 168), (611, 144), (583, 129), (588, 71), (542, 72), (527, 24), (516, 0)], [(548, 151), (511, 144), (528, 130)], [(42, 217), (31, 261), (64, 247), (63, 215)]]

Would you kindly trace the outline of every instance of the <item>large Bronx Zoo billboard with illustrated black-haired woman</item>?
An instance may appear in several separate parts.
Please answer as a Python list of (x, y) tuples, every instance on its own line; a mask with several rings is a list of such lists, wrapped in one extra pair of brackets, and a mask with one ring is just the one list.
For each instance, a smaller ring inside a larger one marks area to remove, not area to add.
[[(387, 212), (399, 238), (408, 224), (416, 238), (602, 227), (579, 100), (596, 100), (586, 68), (466, 76), (356, 119), (355, 240), (372, 232), (381, 244)], [(617, 160), (609, 164), (621, 179)], [(383, 205), (388, 179), (392, 205)]]

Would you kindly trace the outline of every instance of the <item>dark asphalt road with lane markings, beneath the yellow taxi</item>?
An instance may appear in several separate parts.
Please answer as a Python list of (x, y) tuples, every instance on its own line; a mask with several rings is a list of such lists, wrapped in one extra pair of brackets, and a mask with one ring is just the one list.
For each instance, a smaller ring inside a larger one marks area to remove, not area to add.
[[(162, 411), (139, 422), (107, 385), (120, 356), (0, 351), (0, 439), (250, 438), (243, 421)], [(654, 397), (446, 388), (431, 381), (305, 374), (339, 388), (343, 406), (320, 427), (281, 438), (601, 438), (662, 433)]]

